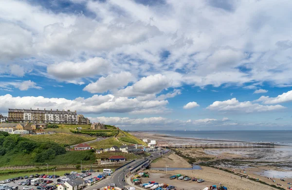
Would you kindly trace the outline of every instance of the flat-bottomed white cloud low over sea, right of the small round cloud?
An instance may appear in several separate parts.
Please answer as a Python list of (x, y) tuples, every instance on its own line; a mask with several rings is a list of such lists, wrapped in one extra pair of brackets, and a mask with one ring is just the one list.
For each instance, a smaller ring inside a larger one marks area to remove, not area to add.
[(254, 104), (250, 101), (239, 102), (236, 98), (232, 98), (225, 101), (215, 101), (213, 104), (207, 107), (213, 111), (238, 111), (238, 112), (262, 112), (262, 111), (274, 111), (284, 109), (284, 106), (264, 106), (260, 104)]

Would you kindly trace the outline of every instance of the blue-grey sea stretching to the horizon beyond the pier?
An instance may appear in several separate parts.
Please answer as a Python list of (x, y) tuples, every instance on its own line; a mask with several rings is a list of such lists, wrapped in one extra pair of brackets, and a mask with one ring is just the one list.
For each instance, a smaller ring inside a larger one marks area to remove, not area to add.
[(292, 130), (243, 130), (243, 131), (149, 131), (176, 137), (228, 140), (242, 142), (274, 142), (292, 145)]

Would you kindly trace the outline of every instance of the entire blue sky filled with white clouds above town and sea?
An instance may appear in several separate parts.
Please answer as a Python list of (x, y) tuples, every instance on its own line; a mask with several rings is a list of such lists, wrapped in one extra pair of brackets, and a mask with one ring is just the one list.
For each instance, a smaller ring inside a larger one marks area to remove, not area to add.
[(291, 0), (1, 0), (0, 112), (292, 129)]

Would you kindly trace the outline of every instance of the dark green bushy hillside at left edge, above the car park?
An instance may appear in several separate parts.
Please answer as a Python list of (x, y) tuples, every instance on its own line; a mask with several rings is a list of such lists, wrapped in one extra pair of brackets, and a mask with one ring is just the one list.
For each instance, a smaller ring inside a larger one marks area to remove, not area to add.
[(55, 142), (37, 142), (0, 131), (0, 166), (74, 164), (95, 161), (92, 151), (66, 151)]

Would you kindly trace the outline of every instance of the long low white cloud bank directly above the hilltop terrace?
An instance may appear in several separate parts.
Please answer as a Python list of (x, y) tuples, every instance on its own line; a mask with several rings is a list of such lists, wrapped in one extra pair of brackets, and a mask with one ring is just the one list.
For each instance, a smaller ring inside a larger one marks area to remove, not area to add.
[(73, 100), (65, 98), (46, 98), (43, 96), (0, 96), (1, 112), (7, 111), (8, 108), (52, 108), (60, 110), (76, 110), (79, 113), (122, 113), (160, 108), (167, 104), (167, 100), (139, 101), (136, 98), (115, 97), (114, 95), (93, 95), (89, 98), (78, 97)]

